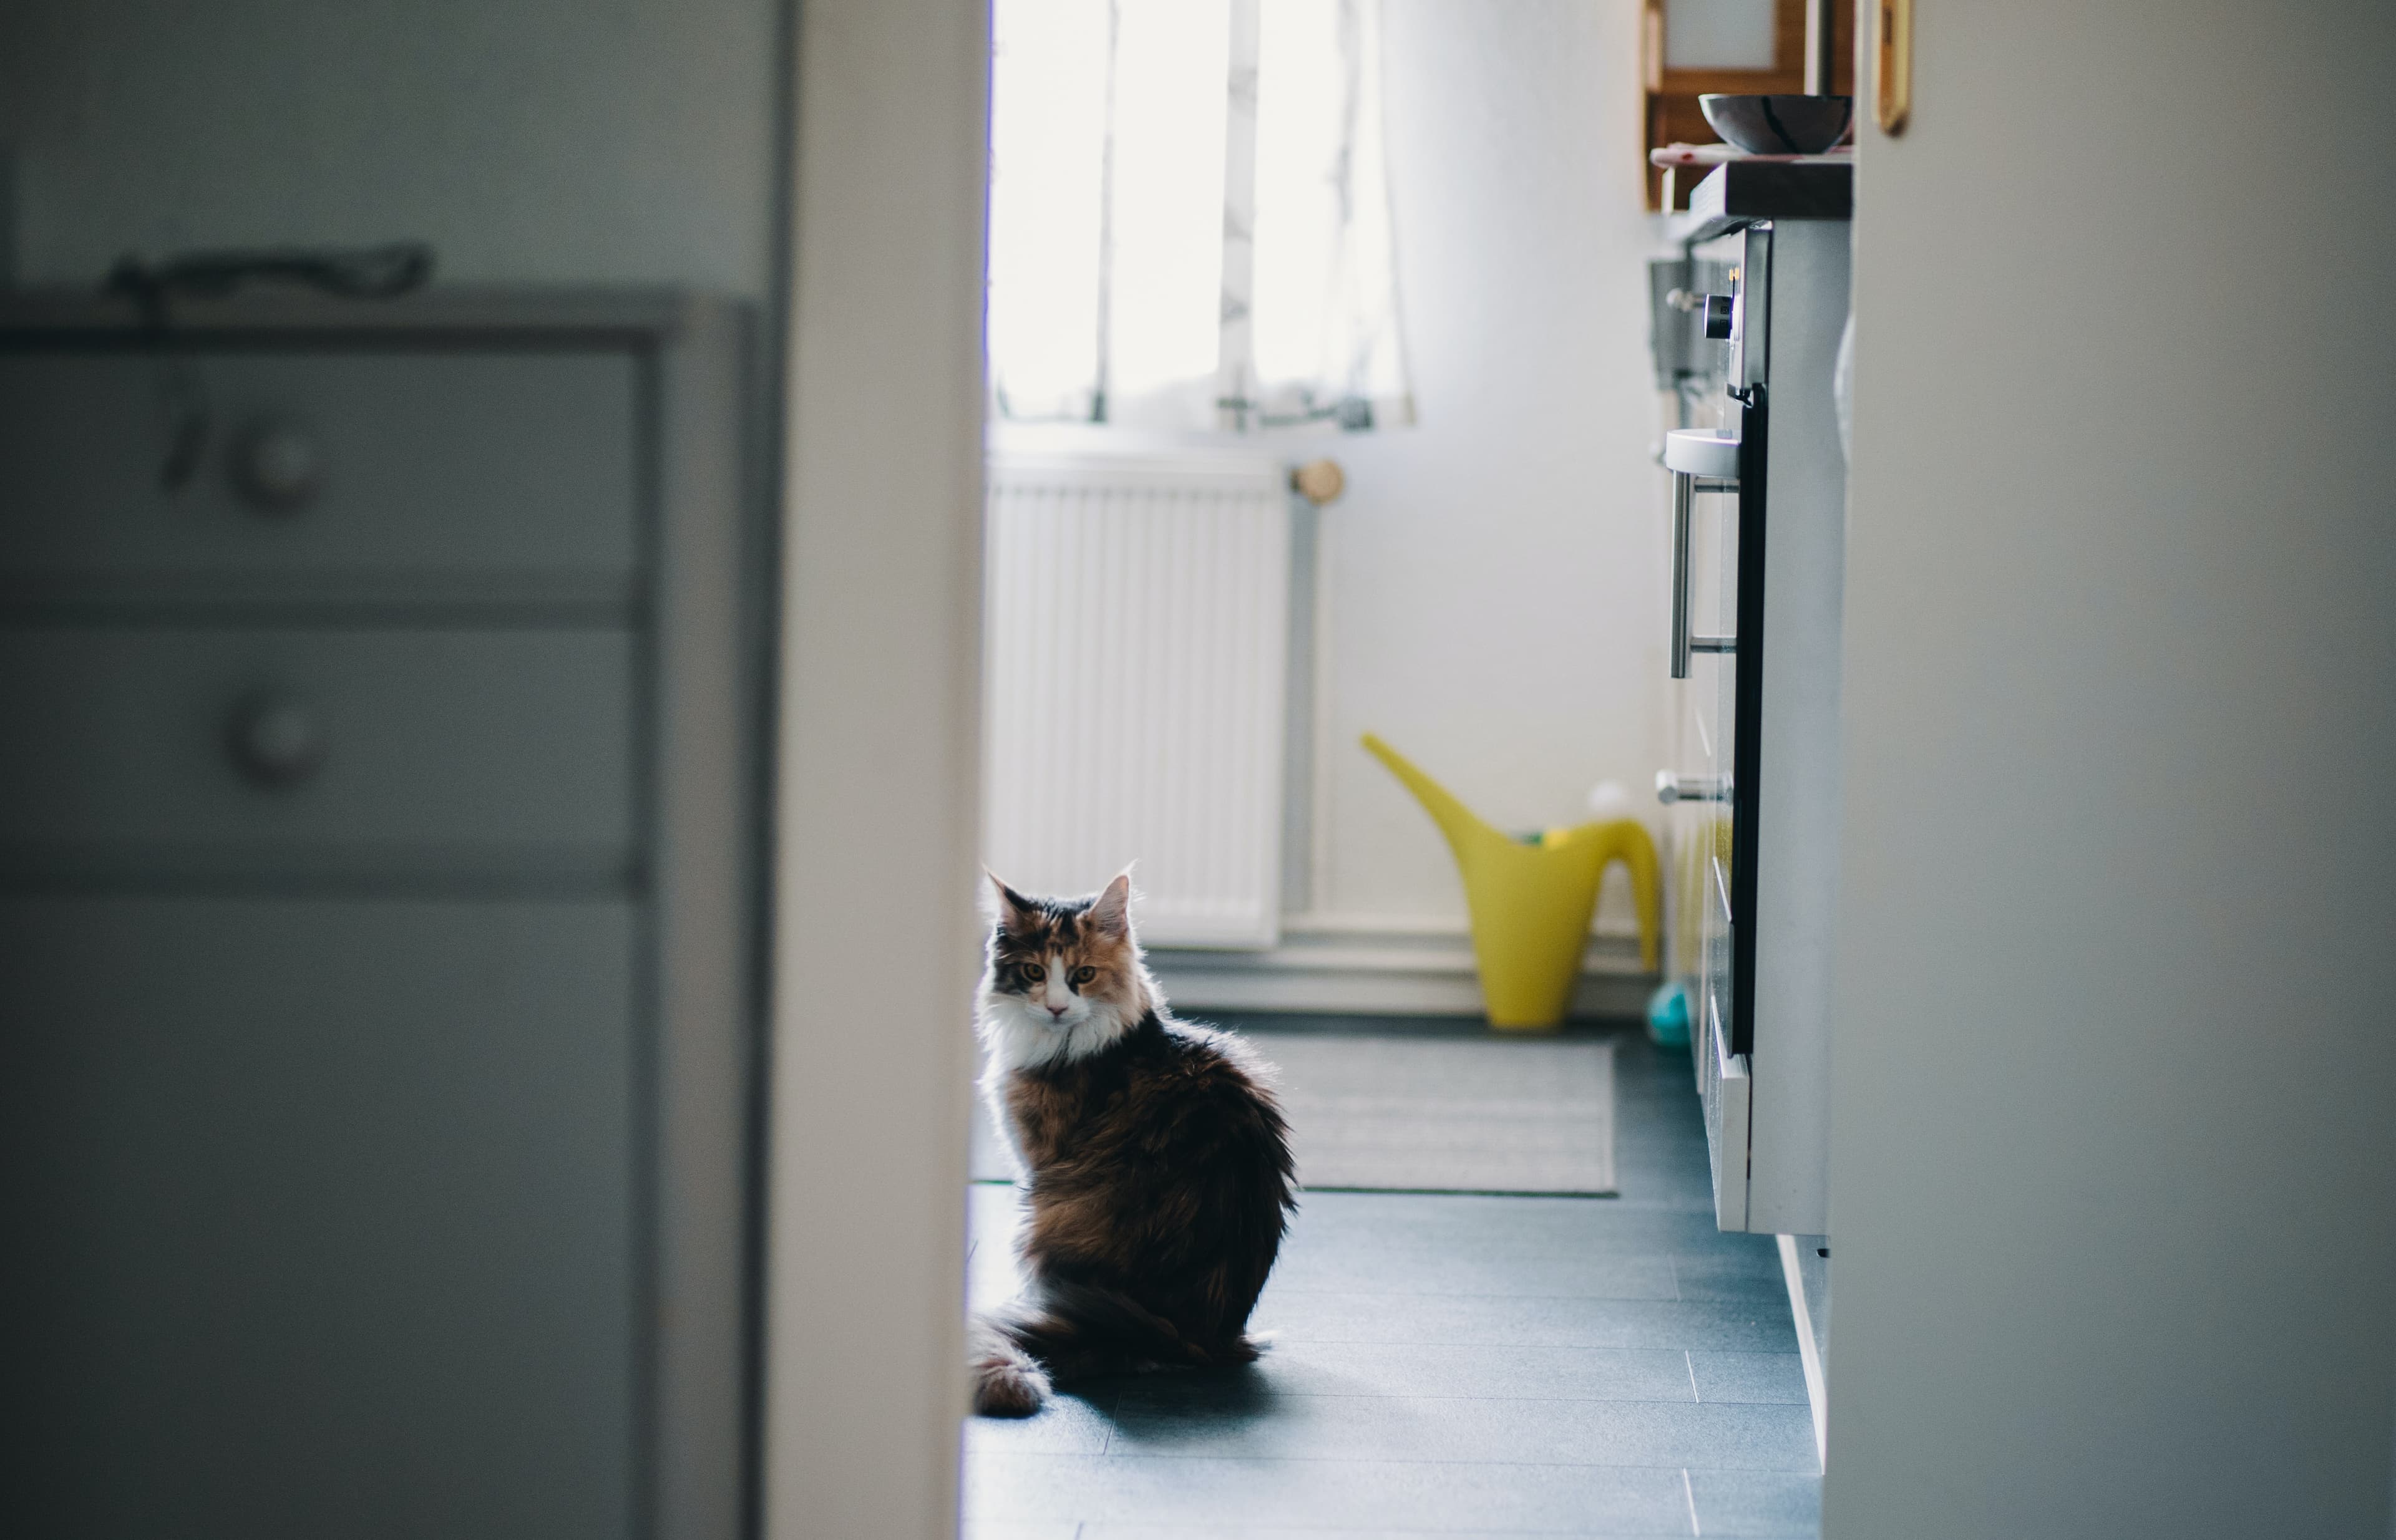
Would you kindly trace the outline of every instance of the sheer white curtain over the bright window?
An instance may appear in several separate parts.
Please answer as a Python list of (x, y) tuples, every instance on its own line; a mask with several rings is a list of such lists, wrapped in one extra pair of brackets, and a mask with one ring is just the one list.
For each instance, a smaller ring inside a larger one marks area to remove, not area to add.
[(997, 0), (999, 419), (1414, 419), (1380, 0)]

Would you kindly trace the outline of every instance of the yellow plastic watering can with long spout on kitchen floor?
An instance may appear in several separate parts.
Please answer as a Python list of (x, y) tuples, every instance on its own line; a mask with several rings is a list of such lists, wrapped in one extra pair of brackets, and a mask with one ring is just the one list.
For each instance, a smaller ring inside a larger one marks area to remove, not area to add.
[(1572, 984), (1581, 977), (1589, 917), (1598, 908), (1598, 879), (1620, 860), (1632, 869), (1639, 901), (1639, 960), (1656, 972), (1656, 939), (1663, 934), (1663, 889), (1656, 874), (1656, 841), (1634, 819), (1548, 829), (1519, 841), (1490, 829), (1454, 793), (1426, 776), (1373, 733), (1363, 747), (1390, 766), (1447, 836), (1464, 874), (1464, 903), (1474, 915), (1474, 960), (1493, 1027), (1553, 1027), (1565, 1020)]

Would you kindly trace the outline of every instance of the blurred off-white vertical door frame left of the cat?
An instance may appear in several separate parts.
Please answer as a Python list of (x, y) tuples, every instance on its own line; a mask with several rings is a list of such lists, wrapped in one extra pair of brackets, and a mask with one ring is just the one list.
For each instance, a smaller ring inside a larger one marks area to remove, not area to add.
[(954, 1535), (980, 800), (978, 0), (793, 22), (762, 1533)]

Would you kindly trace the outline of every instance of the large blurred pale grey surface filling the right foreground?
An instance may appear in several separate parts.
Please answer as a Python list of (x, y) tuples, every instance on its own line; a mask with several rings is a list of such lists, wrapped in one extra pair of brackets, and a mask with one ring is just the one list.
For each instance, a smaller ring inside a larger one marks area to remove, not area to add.
[[(2384, 0), (1922, 5), (1857, 175), (1831, 1540), (2389, 1535)], [(2195, 127), (2192, 125), (2202, 125)]]

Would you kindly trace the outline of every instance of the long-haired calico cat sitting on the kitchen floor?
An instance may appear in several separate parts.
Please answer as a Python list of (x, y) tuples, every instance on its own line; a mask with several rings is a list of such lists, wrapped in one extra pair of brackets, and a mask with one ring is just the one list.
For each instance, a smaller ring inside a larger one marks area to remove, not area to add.
[(982, 1095), (1023, 1166), (1030, 1281), (970, 1327), (973, 1411), (1030, 1415), (1052, 1375), (1251, 1363), (1296, 1207), (1270, 1071), (1167, 1015), (1129, 872), (1090, 898), (990, 886)]

